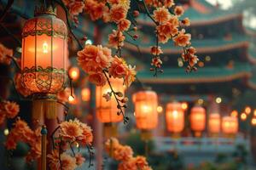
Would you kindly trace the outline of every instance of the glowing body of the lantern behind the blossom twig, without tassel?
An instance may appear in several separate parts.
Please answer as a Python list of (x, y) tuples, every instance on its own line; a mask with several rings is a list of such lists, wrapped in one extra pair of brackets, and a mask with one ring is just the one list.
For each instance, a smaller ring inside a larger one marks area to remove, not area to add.
[[(115, 92), (125, 93), (122, 79), (111, 78), (110, 82)], [(110, 101), (102, 98), (103, 94), (111, 92), (108, 84), (103, 87), (96, 87), (96, 116), (100, 122), (120, 122), (123, 120), (122, 116), (117, 115), (119, 109), (117, 108), (116, 100), (111, 97)]]

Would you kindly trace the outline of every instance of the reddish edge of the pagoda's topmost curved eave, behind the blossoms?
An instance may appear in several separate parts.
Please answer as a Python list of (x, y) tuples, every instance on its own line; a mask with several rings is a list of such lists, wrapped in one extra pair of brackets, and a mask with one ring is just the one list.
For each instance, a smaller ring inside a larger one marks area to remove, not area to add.
[[(226, 14), (224, 16), (218, 16), (216, 18), (210, 18), (210, 19), (206, 17), (202, 20), (190, 20), (190, 22), (191, 22), (191, 26), (209, 26), (209, 25), (215, 25), (218, 23), (227, 22), (229, 20), (242, 20), (242, 14)], [(137, 23), (142, 24), (144, 26), (155, 26), (154, 22), (152, 22), (151, 20), (137, 19)]]

